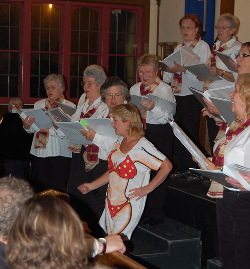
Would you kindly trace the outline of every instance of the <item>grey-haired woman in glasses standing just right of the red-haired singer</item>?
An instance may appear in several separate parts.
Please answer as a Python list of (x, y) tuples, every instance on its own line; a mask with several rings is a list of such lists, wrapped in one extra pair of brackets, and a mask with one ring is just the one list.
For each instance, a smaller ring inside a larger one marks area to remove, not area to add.
[[(235, 53), (235, 51), (240, 50), (242, 44), (238, 42), (234, 36), (238, 28), (238, 19), (231, 14), (222, 14), (218, 18), (218, 22), (215, 28), (218, 34), (218, 41), (213, 45), (211, 51), (212, 54), (210, 55), (209, 60), (206, 64), (210, 66), (210, 73), (212, 75), (221, 76), (222, 80), (205, 81), (203, 88), (204, 90), (225, 86), (234, 86), (235, 82), (237, 82), (238, 79), (238, 73), (229, 70), (225, 66), (225, 64), (219, 59), (219, 57), (216, 56), (216, 54), (213, 52), (213, 50), (216, 50), (224, 54), (232, 54)], [(204, 101), (209, 107), (208, 112), (220, 115), (218, 109), (214, 106), (213, 103), (207, 101), (205, 98)], [(208, 115), (205, 109), (203, 109), (203, 111), (205, 112), (203, 116)], [(223, 123), (219, 119), (217, 119), (215, 122), (212, 118), (209, 117), (206, 117), (206, 120), (209, 134), (209, 142), (212, 152), (214, 142), (216, 142), (220, 138), (220, 136), (225, 133), (226, 123)]]

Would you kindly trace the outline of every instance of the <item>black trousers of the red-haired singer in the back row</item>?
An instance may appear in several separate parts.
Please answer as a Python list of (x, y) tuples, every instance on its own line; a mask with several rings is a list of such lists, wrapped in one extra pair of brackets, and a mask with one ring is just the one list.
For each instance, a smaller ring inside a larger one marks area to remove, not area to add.
[[(177, 103), (175, 122), (199, 147), (200, 112), (203, 107), (194, 95), (175, 96), (175, 98)], [(174, 161), (176, 165), (182, 164), (188, 168), (199, 168), (177, 137), (174, 137)]]

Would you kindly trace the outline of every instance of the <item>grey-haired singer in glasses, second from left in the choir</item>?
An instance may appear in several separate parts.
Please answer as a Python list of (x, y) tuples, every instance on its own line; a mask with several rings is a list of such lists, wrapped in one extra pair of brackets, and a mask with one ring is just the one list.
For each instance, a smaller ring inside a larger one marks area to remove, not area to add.
[[(106, 79), (106, 74), (101, 66), (90, 65), (85, 69), (81, 83), (85, 92), (81, 98), (83, 102), (78, 105), (76, 112), (71, 117), (72, 121), (102, 117), (107, 105), (101, 100), (100, 89)], [(99, 159), (97, 146), (74, 145), (70, 142), (68, 150), (73, 152), (68, 184), (70, 204), (82, 220), (89, 224), (90, 229), (95, 232), (98, 229), (98, 226), (94, 226), (95, 223), (98, 225), (98, 214), (92, 210), (92, 199), (98, 199), (99, 193), (96, 191), (83, 196), (77, 187), (84, 182), (91, 182), (105, 173), (107, 163)], [(96, 197), (91, 197), (91, 195)]]

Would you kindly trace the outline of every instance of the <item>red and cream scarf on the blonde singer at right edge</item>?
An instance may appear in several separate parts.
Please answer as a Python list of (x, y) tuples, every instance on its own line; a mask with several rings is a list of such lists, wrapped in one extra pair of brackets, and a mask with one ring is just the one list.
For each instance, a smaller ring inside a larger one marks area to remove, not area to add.
[[(215, 152), (212, 157), (212, 162), (218, 169), (221, 169), (224, 165), (224, 155), (227, 148), (227, 144), (232, 140), (232, 138), (236, 137), (248, 126), (250, 126), (250, 120), (247, 120), (241, 127), (239, 127), (241, 120), (241, 117), (236, 117), (236, 119), (232, 122), (230, 129), (226, 133), (225, 139), (222, 140), (215, 149)], [(211, 198), (223, 198), (224, 187), (213, 180), (211, 180), (211, 183), (212, 184), (207, 192), (207, 196)]]

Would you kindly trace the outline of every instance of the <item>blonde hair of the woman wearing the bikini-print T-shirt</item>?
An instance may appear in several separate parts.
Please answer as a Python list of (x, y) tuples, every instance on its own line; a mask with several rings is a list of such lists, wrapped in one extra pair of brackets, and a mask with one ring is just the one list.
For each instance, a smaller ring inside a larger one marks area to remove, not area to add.
[(112, 112), (121, 117), (123, 122), (125, 122), (127, 118), (131, 119), (131, 123), (127, 127), (127, 134), (130, 137), (134, 134), (145, 136), (138, 109), (133, 104), (127, 103), (114, 106)]

